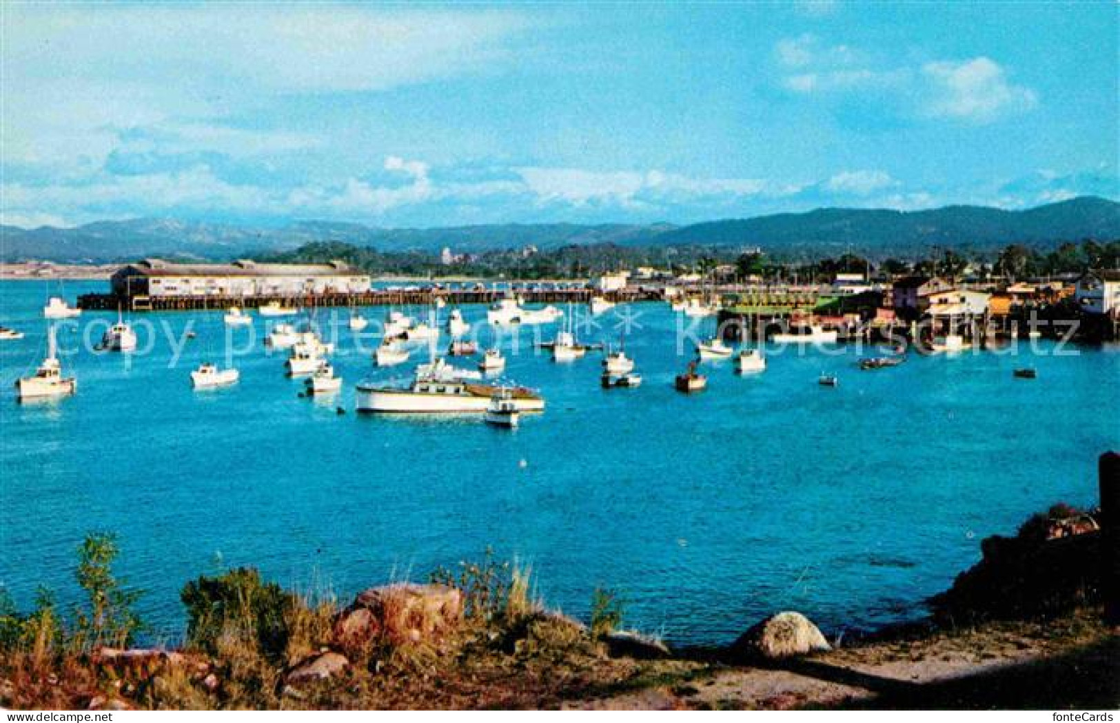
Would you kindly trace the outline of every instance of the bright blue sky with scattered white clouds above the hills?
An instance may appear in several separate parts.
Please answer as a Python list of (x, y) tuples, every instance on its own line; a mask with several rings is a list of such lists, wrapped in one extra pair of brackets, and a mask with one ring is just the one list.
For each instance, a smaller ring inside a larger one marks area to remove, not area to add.
[(1118, 4), (4, 2), (3, 223), (689, 223), (1118, 189)]

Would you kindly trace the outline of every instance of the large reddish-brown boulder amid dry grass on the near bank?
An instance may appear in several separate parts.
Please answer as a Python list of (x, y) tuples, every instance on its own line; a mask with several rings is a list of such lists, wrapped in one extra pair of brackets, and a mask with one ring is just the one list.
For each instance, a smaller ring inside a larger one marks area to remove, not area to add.
[(463, 622), (463, 594), (448, 585), (395, 584), (371, 588), (335, 619), (334, 642), (349, 652), (375, 641), (433, 642)]

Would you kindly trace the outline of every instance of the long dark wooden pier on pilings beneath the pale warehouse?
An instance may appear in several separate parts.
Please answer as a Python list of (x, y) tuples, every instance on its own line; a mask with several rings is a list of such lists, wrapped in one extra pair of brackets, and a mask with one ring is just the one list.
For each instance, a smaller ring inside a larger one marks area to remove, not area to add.
[[(525, 303), (587, 303), (595, 295), (591, 289), (539, 289), (515, 292)], [(147, 297), (114, 293), (87, 293), (78, 297), (77, 306), (83, 311), (205, 311), (231, 307), (256, 309), (267, 303), (286, 307), (385, 307), (385, 306), (430, 306), (437, 299), (448, 306), (470, 303), (491, 304), (508, 295), (507, 291), (494, 289), (414, 289), (374, 290), (365, 293), (325, 293), (301, 297)], [(625, 291), (603, 294), (614, 302), (659, 301), (659, 291)]]

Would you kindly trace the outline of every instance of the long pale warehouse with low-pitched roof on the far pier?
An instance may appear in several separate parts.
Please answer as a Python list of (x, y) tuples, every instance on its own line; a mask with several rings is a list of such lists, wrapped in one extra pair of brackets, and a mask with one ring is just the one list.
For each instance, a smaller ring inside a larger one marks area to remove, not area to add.
[(227, 264), (174, 263), (144, 259), (110, 279), (124, 299), (304, 297), (370, 291), (370, 276), (340, 261), (327, 264), (272, 264), (242, 259)]

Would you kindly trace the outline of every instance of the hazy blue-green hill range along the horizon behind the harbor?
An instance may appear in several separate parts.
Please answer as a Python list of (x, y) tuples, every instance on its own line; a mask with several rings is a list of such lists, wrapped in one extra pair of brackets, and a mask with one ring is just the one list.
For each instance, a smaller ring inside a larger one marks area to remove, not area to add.
[(482, 252), (533, 245), (763, 246), (773, 253), (916, 254), (933, 245), (989, 251), (1009, 243), (1052, 245), (1120, 238), (1120, 204), (1074, 198), (1027, 210), (946, 206), (931, 210), (823, 208), (802, 214), (671, 224), (504, 224), (449, 228), (376, 228), (321, 220), (251, 227), (172, 219), (97, 222), (77, 228), (0, 226), (0, 260), (111, 262), (142, 256), (232, 259), (334, 241), (379, 251)]

